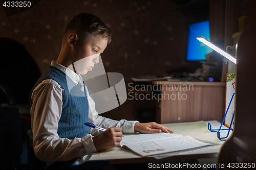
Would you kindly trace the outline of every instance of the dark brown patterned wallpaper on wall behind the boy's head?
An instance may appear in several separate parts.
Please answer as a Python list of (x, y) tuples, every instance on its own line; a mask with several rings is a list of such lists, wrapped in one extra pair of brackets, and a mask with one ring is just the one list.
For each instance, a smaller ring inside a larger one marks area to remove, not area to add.
[(42, 0), (6, 17), (1, 6), (0, 37), (23, 44), (42, 74), (57, 59), (70, 19), (92, 13), (112, 32), (112, 42), (101, 55), (106, 72), (120, 72), (125, 78), (163, 76), (186, 64), (186, 17), (174, 8), (166, 0)]

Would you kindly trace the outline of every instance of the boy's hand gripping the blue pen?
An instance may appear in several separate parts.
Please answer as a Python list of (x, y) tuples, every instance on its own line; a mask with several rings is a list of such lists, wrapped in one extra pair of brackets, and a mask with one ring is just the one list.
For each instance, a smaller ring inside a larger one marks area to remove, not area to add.
[(104, 151), (117, 147), (122, 140), (122, 132), (119, 127), (112, 127), (105, 132), (96, 135), (93, 138), (93, 143), (97, 151)]

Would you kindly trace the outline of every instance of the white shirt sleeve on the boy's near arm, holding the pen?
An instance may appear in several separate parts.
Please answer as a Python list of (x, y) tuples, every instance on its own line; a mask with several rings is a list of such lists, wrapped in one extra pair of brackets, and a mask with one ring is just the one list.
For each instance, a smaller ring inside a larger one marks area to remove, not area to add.
[(92, 135), (60, 138), (57, 134), (64, 90), (54, 80), (45, 80), (33, 91), (31, 126), (35, 156), (42, 161), (68, 161), (96, 152)]

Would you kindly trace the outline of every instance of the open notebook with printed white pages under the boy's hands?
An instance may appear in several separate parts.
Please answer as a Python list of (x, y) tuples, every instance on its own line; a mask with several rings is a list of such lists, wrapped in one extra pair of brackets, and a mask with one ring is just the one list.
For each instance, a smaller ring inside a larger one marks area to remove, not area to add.
[(201, 142), (191, 136), (171, 133), (151, 133), (124, 136), (121, 147), (127, 147), (141, 156), (163, 154), (192, 148), (205, 147), (210, 143)]

